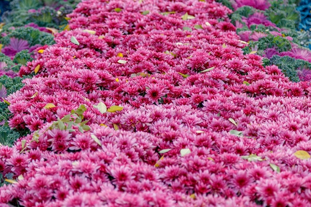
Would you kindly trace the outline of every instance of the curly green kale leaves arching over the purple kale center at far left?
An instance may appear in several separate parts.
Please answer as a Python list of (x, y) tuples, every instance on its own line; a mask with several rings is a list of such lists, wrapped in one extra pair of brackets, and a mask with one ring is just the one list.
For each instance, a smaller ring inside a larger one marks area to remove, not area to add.
[(8, 45), (10, 43), (11, 37), (27, 40), (30, 46), (34, 46), (36, 44), (53, 45), (55, 43), (52, 34), (47, 32), (40, 32), (38, 29), (33, 27), (20, 27), (11, 30), (7, 36), (0, 38), (0, 42), (3, 45)]

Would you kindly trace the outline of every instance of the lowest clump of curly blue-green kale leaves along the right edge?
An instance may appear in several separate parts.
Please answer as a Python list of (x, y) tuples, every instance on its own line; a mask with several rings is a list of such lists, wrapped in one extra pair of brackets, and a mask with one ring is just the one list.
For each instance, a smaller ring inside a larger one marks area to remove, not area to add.
[(289, 77), (291, 81), (299, 82), (300, 79), (297, 75), (297, 69), (311, 69), (311, 63), (301, 60), (291, 58), (289, 56), (280, 57), (278, 55), (274, 55), (270, 59), (269, 65), (276, 65), (285, 76)]

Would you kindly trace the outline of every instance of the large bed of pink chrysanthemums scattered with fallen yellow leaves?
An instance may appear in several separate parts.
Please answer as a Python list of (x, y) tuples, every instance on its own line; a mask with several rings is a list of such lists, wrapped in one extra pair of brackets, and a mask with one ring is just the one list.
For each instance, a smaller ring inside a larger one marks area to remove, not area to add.
[(311, 86), (212, 0), (88, 0), (5, 101), (2, 206), (310, 207)]

